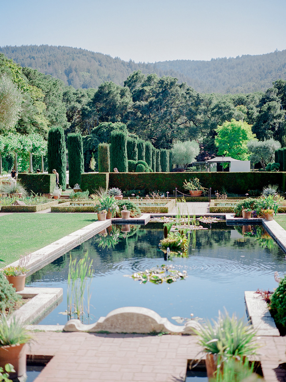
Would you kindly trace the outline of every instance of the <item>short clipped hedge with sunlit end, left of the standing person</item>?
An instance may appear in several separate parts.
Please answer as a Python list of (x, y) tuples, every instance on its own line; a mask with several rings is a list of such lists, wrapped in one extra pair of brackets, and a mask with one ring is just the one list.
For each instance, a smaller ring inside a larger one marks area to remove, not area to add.
[(20, 173), (18, 179), (27, 191), (35, 194), (51, 194), (56, 187), (55, 174), (24, 174)]

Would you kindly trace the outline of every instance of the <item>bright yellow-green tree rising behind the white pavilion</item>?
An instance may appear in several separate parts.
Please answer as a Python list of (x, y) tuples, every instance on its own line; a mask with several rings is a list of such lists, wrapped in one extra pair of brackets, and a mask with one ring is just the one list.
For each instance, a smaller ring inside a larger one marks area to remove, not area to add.
[(239, 160), (248, 160), (249, 152), (247, 142), (255, 138), (251, 131), (251, 125), (243, 121), (226, 121), (222, 126), (215, 129), (215, 146), (218, 147), (218, 155), (225, 155)]

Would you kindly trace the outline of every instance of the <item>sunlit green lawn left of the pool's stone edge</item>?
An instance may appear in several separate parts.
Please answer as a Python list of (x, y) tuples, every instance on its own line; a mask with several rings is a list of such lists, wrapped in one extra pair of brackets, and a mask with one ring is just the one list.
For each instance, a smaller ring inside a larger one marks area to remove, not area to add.
[(97, 220), (95, 214), (29, 214), (0, 216), (0, 259), (6, 264), (37, 251)]

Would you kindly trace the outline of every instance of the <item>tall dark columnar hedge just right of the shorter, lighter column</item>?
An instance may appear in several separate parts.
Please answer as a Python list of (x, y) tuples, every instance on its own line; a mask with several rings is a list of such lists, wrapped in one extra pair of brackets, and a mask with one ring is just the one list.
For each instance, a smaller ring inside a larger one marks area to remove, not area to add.
[(112, 131), (110, 144), (110, 168), (119, 172), (128, 172), (127, 134), (124, 131)]

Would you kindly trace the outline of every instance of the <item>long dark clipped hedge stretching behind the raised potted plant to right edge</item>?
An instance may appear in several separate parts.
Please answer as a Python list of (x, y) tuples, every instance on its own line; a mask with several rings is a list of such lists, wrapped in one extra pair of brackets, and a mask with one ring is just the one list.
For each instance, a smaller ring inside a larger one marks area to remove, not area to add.
[(285, 176), (283, 172), (192, 172), (189, 173), (120, 173), (109, 175), (109, 187), (119, 187), (122, 191), (130, 189), (159, 190), (173, 193), (175, 187), (178, 191), (187, 194), (183, 188), (184, 180), (198, 177), (202, 186), (237, 194), (245, 194), (249, 189), (261, 189), (269, 184), (278, 185), (285, 191)]

